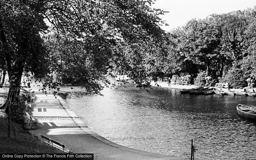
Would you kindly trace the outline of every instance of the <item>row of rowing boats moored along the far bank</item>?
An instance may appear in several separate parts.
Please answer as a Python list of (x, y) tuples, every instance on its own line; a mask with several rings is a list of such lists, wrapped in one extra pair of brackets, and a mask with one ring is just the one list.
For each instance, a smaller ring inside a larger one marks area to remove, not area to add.
[(244, 91), (231, 91), (230, 89), (226, 89), (225, 91), (221, 88), (210, 88), (210, 87), (197, 87), (192, 89), (182, 89), (180, 91), (182, 94), (195, 94), (195, 95), (210, 95), (210, 94), (218, 94), (218, 95), (239, 95), (239, 96), (256, 96), (255, 90), (244, 89)]

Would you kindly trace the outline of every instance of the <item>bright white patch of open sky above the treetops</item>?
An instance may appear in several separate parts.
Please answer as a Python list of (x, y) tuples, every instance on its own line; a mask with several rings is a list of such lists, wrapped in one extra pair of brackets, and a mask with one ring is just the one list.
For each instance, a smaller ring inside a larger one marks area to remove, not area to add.
[(211, 14), (222, 14), (256, 6), (256, 0), (157, 0), (153, 5), (169, 13), (160, 16), (169, 26), (165, 31), (184, 26), (192, 18), (204, 19)]

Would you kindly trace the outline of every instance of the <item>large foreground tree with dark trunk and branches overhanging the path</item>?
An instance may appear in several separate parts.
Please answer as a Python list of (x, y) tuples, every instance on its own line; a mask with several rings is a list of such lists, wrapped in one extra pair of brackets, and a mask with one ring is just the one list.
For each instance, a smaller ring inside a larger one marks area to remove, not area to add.
[(145, 81), (152, 70), (147, 61), (157, 57), (166, 35), (158, 17), (165, 11), (151, 8), (152, 3), (1, 0), (0, 69), (7, 71), (10, 83), (6, 111), (18, 111), (23, 75), (42, 81), (44, 92), (61, 83), (99, 94), (102, 83), (109, 85), (103, 76), (109, 68), (129, 72), (138, 83)]

